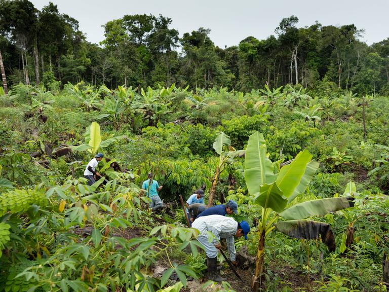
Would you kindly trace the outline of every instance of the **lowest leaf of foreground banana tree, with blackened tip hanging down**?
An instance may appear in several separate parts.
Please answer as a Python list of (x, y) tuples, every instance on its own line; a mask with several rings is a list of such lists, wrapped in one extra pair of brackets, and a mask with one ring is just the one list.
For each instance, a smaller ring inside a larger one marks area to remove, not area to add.
[(291, 220), (278, 222), (276, 228), (278, 231), (298, 239), (319, 239), (319, 236), (321, 236), (329, 251), (335, 251), (336, 249), (334, 234), (332, 233), (331, 226), (327, 223)]

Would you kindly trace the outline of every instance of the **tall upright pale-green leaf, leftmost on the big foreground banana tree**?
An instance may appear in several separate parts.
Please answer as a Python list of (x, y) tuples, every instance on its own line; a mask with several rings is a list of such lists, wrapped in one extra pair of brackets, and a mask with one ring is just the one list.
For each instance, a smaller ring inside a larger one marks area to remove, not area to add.
[(266, 157), (263, 135), (255, 132), (249, 137), (245, 155), (245, 179), (250, 194), (260, 191), (260, 186), (276, 180), (273, 163)]

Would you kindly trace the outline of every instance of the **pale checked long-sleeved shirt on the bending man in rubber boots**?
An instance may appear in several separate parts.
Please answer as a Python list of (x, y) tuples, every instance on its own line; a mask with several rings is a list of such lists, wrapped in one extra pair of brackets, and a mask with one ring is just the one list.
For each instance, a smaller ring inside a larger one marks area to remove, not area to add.
[(232, 217), (225, 217), (222, 215), (209, 215), (198, 217), (192, 223), (192, 227), (200, 231), (200, 235), (208, 238), (208, 231), (210, 231), (216, 239), (212, 242), (214, 245), (219, 244), (220, 238), (225, 238), (229, 257), (231, 261), (235, 261), (235, 239), (234, 235), (238, 230), (238, 222)]

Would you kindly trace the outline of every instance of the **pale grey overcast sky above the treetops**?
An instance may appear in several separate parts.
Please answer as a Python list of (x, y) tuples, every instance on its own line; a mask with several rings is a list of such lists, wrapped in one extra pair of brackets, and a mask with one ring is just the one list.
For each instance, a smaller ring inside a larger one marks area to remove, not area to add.
[[(30, 0), (41, 10), (49, 0)], [(172, 28), (184, 32), (199, 27), (210, 28), (215, 45), (238, 45), (247, 36), (262, 40), (281, 19), (295, 15), (298, 27), (318, 20), (323, 25), (354, 23), (364, 29), (362, 41), (371, 45), (389, 37), (387, 13), (389, 0), (52, 0), (60, 13), (80, 22), (87, 40), (99, 43), (104, 39), (101, 27), (112, 19), (126, 14), (162, 14), (170, 17)]]

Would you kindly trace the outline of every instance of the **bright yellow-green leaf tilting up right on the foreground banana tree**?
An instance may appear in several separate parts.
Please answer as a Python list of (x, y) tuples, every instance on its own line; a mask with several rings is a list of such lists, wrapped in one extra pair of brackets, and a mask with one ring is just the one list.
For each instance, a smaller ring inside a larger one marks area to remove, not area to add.
[(281, 168), (276, 182), (277, 186), (283, 191), (285, 197), (289, 198), (298, 187), (305, 173), (306, 165), (311, 159), (312, 155), (309, 151), (304, 150), (297, 154), (291, 164)]

